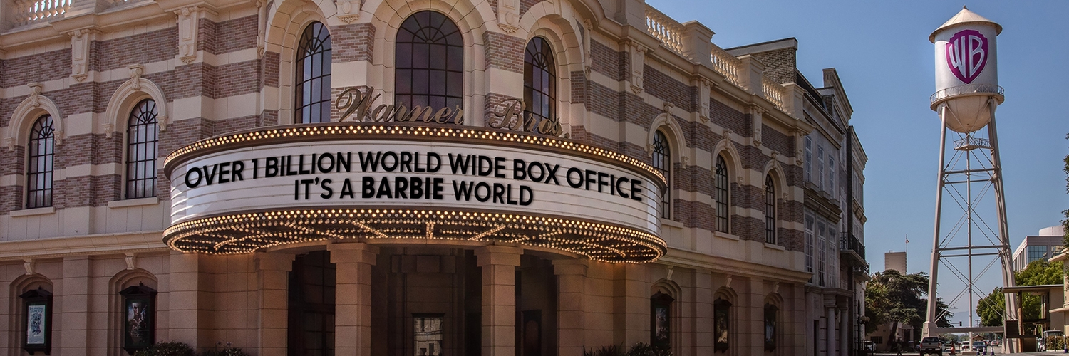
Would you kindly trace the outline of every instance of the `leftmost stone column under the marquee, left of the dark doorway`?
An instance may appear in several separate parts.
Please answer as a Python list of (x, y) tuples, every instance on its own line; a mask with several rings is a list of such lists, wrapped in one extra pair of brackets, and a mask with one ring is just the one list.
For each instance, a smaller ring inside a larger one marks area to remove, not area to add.
[[(293, 254), (257, 252), (260, 356), (285, 356)], [(172, 316), (173, 318), (173, 316)]]

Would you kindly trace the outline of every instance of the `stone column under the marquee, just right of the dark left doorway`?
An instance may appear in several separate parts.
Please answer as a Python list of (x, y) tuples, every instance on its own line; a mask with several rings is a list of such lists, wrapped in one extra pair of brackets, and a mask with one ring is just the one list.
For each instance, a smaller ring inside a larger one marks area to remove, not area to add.
[(335, 264), (335, 352), (371, 356), (371, 266), (378, 248), (365, 243), (330, 244)]

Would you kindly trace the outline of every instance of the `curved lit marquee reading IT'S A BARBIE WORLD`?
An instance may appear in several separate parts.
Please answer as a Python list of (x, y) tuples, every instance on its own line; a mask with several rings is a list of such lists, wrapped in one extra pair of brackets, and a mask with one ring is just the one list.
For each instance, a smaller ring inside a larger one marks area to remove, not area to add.
[(485, 128), (316, 124), (202, 140), (171, 154), (180, 251), (247, 253), (314, 239), (517, 243), (649, 262), (664, 177), (559, 138)]

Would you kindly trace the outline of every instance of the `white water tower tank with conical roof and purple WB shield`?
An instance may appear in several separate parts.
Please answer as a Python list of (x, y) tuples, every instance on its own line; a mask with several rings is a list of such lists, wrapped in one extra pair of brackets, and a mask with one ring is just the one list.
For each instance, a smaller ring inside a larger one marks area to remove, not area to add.
[(935, 44), (935, 94), (932, 110), (946, 105), (947, 128), (972, 133), (991, 122), (994, 106), (1003, 102), (998, 87), (995, 36), (1002, 26), (962, 7), (932, 32)]

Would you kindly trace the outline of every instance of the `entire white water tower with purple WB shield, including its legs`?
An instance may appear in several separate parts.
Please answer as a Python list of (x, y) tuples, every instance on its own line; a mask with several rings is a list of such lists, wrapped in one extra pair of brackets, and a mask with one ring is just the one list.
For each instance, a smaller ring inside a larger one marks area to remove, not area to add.
[[(1013, 287), (1006, 197), (995, 131), (995, 109), (1004, 99), (1003, 89), (998, 87), (996, 55), (996, 36), (1001, 32), (998, 24), (962, 9), (928, 38), (935, 45), (935, 94), (931, 96), (931, 109), (939, 113), (943, 125), (925, 336), (1004, 330), (1003, 327), (973, 324), (975, 303), (987, 293), (975, 282), (989, 270), (987, 266), (1000, 265), (1003, 285)], [(950, 146), (947, 145), (948, 131), (952, 138)], [(993, 195), (994, 199), (983, 199), (988, 195)], [(950, 199), (944, 200), (946, 197)], [(983, 205), (985, 202), (989, 205)], [(990, 206), (991, 202), (994, 206)], [(974, 264), (982, 269), (974, 270)], [(957, 280), (951, 278), (940, 283), (941, 268), (950, 272), (950, 277)], [(958, 282), (962, 285), (960, 292), (951, 288)], [(939, 284), (944, 290), (938, 290)], [(958, 310), (969, 309), (969, 327), (938, 327), (935, 322), (942, 315), (936, 313), (936, 297), (954, 306), (963, 301), (966, 295), (969, 307)], [(1013, 294), (1007, 295), (1006, 304), (1006, 320), (1017, 321)]]

